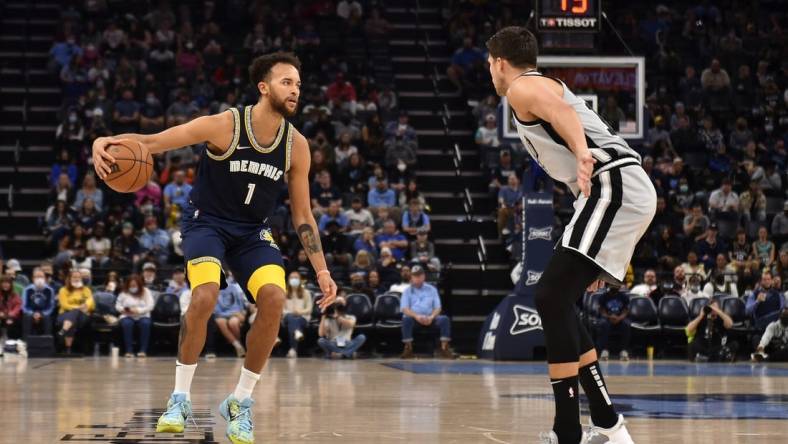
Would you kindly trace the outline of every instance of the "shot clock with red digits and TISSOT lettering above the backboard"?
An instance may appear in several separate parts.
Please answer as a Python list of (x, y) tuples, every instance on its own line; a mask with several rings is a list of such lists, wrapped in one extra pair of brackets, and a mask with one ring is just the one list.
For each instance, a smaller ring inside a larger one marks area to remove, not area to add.
[(540, 32), (598, 32), (602, 0), (536, 0), (536, 29)]

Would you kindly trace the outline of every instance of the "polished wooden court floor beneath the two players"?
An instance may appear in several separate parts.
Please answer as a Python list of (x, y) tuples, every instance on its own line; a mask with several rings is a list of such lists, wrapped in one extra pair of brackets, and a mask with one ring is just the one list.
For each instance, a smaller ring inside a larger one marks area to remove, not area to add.
[[(174, 359), (0, 358), (0, 443), (227, 442), (219, 402), (241, 361), (201, 361), (197, 426), (154, 435)], [(788, 442), (788, 366), (605, 365), (636, 443)], [(274, 359), (254, 398), (260, 443), (535, 443), (552, 422), (544, 365)], [(587, 415), (584, 416), (584, 421)]]

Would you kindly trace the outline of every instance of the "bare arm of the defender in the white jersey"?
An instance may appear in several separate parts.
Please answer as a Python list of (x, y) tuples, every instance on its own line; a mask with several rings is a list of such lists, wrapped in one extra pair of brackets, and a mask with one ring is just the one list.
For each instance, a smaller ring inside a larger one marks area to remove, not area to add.
[(596, 160), (588, 151), (583, 125), (575, 110), (541, 80), (518, 79), (509, 88), (506, 97), (515, 111), (527, 111), (555, 128), (577, 157), (577, 185), (580, 191), (590, 196), (591, 174)]

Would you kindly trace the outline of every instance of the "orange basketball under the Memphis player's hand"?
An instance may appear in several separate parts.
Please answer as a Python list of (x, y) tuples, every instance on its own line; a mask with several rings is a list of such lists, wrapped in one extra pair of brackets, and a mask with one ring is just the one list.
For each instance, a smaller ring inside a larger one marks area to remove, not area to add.
[(119, 193), (133, 193), (144, 187), (153, 173), (150, 151), (140, 142), (123, 139), (110, 145), (107, 152), (115, 158), (110, 173), (104, 181)]

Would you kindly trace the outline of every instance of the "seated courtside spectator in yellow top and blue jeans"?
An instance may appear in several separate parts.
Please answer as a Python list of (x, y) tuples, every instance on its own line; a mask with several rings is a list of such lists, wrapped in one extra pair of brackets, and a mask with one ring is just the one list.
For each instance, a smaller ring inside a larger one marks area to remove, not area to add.
[(66, 353), (71, 353), (74, 336), (87, 326), (89, 315), (96, 308), (93, 292), (82, 282), (82, 274), (72, 270), (66, 285), (57, 295), (60, 312), (57, 317), (58, 337), (62, 338)]

